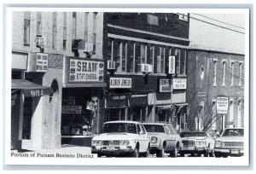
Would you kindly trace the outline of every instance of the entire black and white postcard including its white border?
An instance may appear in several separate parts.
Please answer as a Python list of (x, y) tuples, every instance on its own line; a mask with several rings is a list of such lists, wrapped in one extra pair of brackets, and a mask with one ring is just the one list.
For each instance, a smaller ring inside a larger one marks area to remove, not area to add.
[(249, 9), (6, 9), (7, 165), (249, 164)]

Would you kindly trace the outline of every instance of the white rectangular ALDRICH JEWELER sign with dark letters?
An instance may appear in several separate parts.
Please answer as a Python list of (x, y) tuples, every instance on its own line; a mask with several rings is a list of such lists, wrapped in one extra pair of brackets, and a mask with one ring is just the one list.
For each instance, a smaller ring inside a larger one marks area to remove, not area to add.
[(131, 78), (109, 78), (109, 88), (131, 88)]

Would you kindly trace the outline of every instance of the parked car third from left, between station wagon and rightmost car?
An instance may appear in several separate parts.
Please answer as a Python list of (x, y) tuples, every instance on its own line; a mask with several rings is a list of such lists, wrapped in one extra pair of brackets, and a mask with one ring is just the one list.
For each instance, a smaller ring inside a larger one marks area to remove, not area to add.
[(183, 131), (180, 136), (183, 142), (183, 147), (179, 152), (181, 156), (184, 156), (184, 154), (213, 156), (215, 142), (207, 131)]

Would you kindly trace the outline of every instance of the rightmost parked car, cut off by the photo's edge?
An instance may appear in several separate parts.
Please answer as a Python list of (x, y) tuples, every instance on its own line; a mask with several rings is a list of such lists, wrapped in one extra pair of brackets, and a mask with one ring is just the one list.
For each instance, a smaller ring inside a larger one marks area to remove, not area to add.
[(221, 136), (216, 139), (215, 157), (242, 156), (244, 142), (243, 128), (227, 128)]

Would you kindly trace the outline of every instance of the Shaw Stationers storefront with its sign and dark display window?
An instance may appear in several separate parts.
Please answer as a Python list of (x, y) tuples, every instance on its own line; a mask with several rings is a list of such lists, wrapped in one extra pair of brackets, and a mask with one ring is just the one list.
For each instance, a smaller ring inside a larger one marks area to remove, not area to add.
[(89, 140), (84, 137), (100, 133), (104, 118), (104, 63), (65, 57), (63, 73), (61, 142), (87, 145)]

